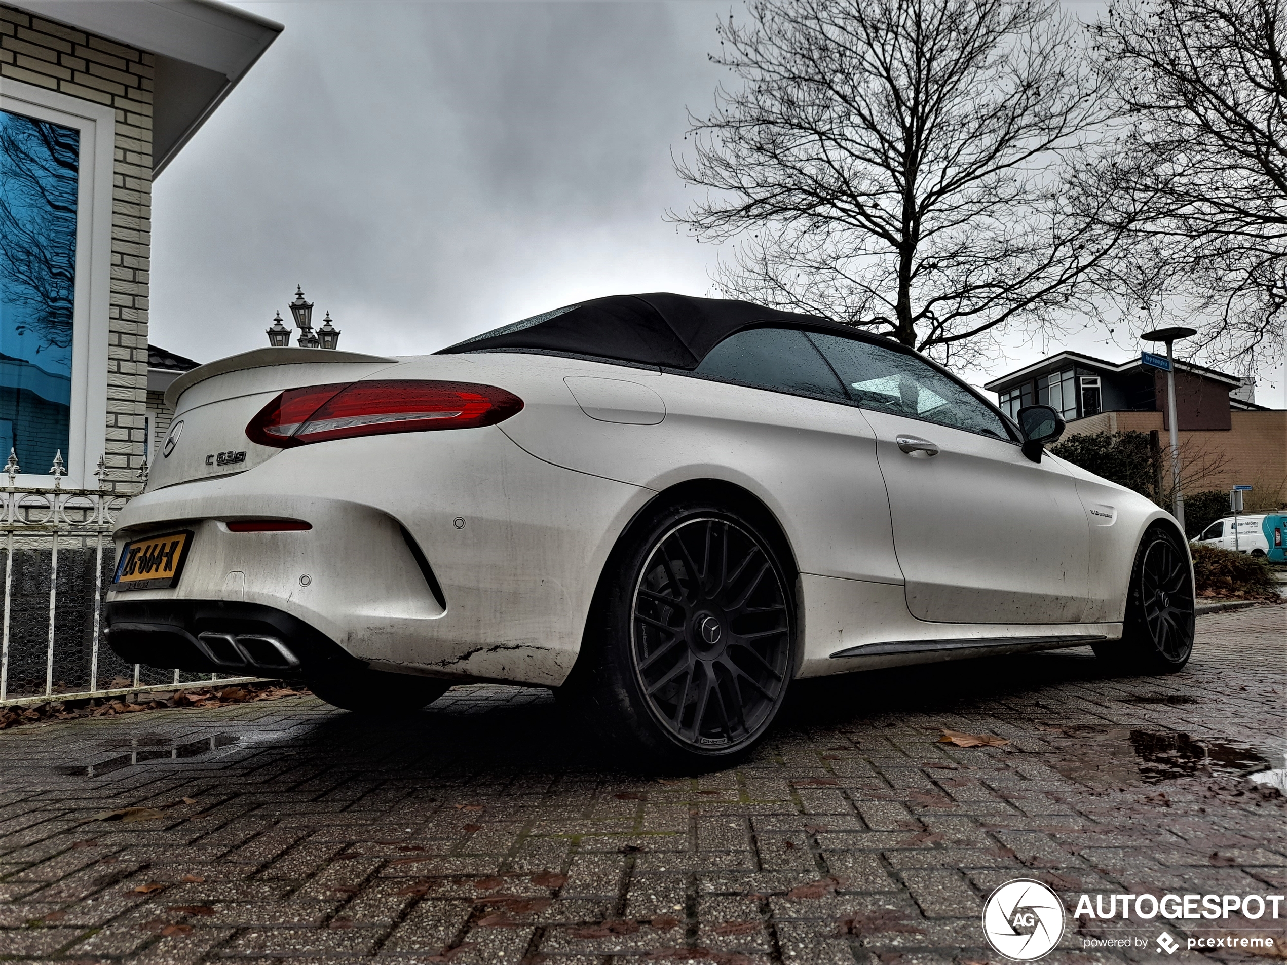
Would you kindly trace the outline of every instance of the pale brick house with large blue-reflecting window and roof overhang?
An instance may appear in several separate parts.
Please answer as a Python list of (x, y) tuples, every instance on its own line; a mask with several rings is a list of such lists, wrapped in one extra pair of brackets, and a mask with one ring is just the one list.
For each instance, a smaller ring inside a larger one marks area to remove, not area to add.
[(196, 364), (148, 346), (152, 180), (281, 30), (214, 0), (0, 1), (0, 459), (19, 485), (60, 452), (66, 485), (94, 486), (103, 454), (135, 492), (149, 400)]

